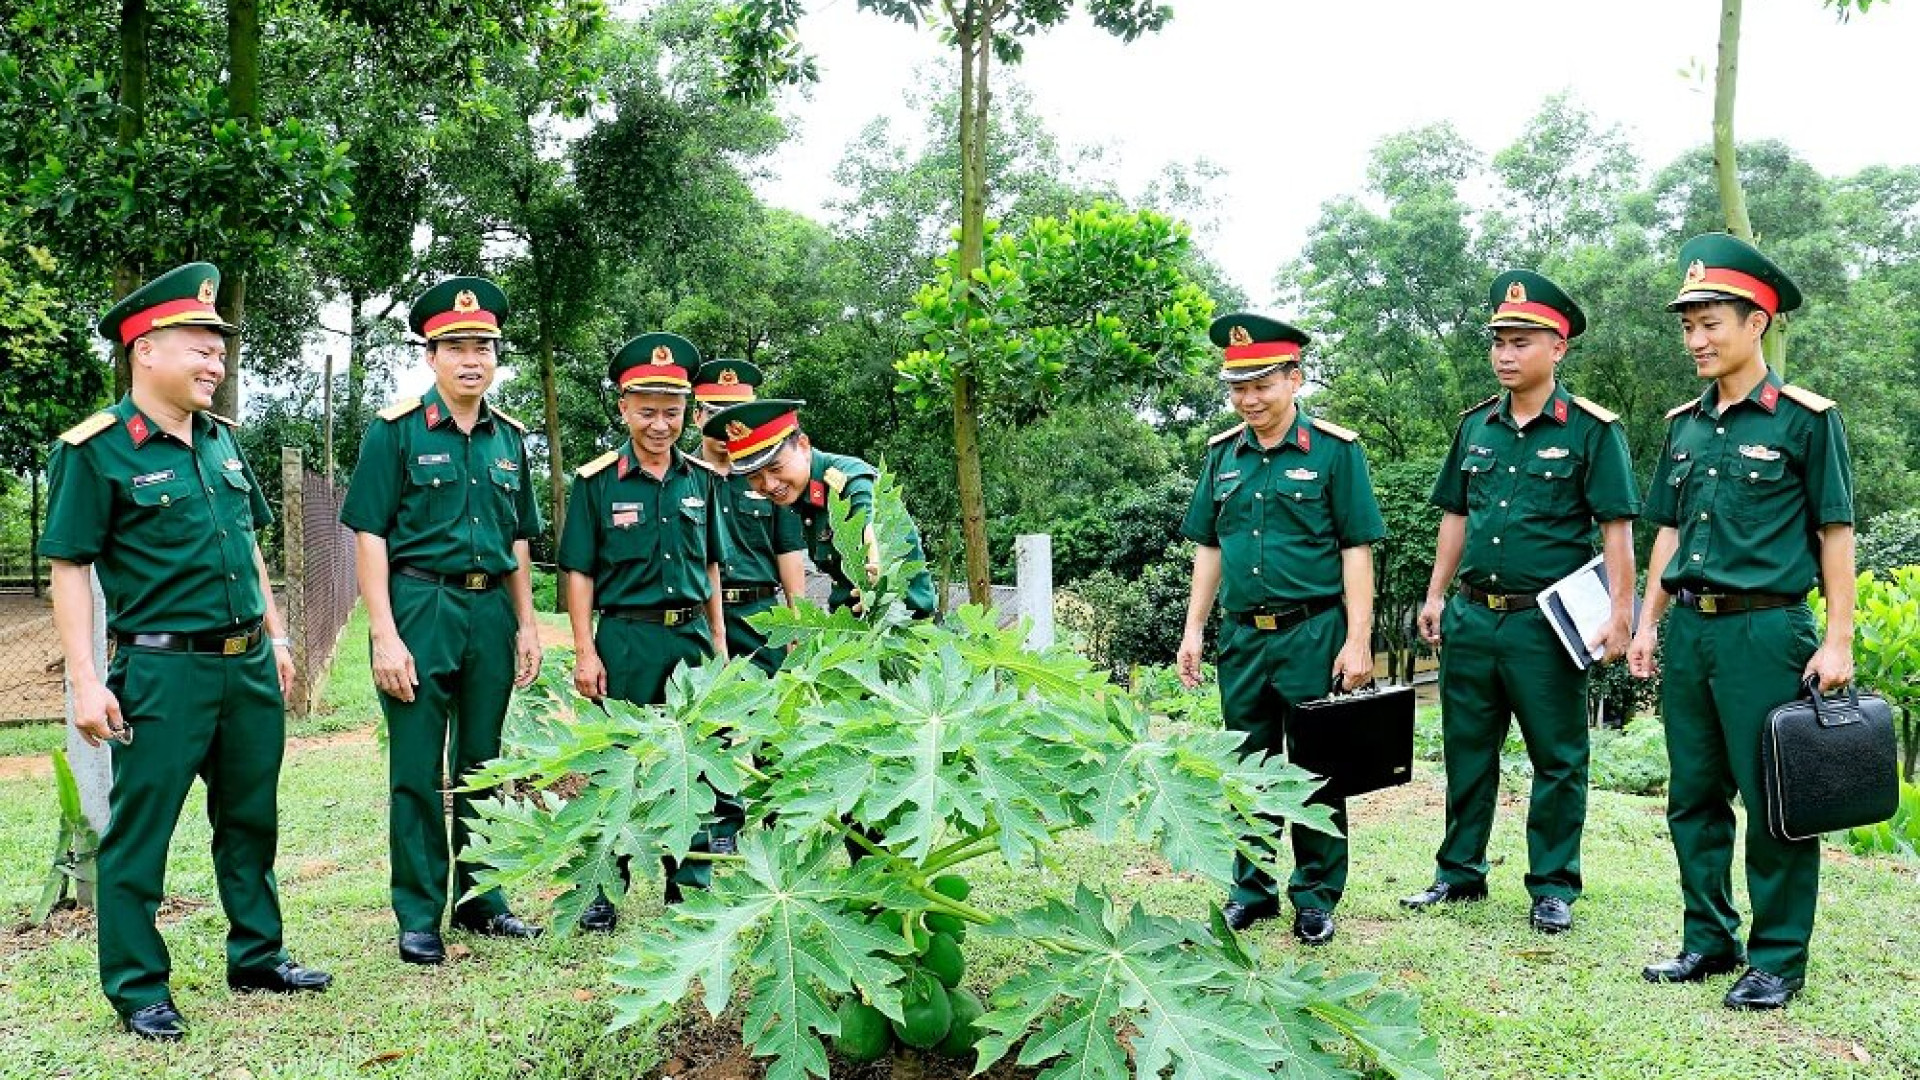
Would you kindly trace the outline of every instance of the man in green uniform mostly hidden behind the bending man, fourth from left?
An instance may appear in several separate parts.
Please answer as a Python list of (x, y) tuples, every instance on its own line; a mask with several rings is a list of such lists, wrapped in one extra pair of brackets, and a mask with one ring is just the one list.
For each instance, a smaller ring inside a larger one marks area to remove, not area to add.
[[(760, 369), (745, 359), (708, 359), (693, 375), (695, 430), (720, 409), (751, 402), (760, 384)], [(714, 502), (720, 509), (720, 600), (726, 607), (730, 655), (753, 657), (774, 675), (785, 653), (766, 648), (766, 634), (747, 623), (778, 601), (806, 596), (806, 536), (799, 515), (753, 488), (733, 473), (724, 438), (701, 436), (701, 461), (714, 471)]]

